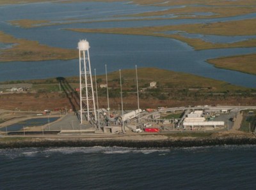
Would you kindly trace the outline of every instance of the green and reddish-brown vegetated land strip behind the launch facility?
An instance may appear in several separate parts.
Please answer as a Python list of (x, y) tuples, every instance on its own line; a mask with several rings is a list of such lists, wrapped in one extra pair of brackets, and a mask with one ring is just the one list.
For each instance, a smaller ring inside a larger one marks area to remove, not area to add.
[[(157, 74), (156, 74), (157, 73)], [(124, 109), (134, 109), (136, 102), (135, 71), (122, 71)], [(188, 106), (188, 105), (256, 105), (255, 89), (230, 85), (227, 82), (198, 77), (186, 73), (166, 71), (156, 68), (139, 68), (140, 107), (157, 108), (158, 106)], [(53, 108), (79, 108), (77, 92), (78, 77), (65, 79), (61, 85), (56, 78), (47, 80), (17, 81), (17, 83), (31, 83), (33, 87), (27, 93), (1, 94), (1, 108), (7, 110), (45, 110)], [(97, 76), (100, 107), (106, 108), (106, 89), (100, 84), (106, 84), (104, 75)], [(157, 89), (148, 89), (149, 83), (157, 82)], [(5, 82), (14, 84), (15, 82)], [(120, 106), (119, 72), (109, 73), (110, 108)], [(19, 86), (19, 85), (17, 85)]]

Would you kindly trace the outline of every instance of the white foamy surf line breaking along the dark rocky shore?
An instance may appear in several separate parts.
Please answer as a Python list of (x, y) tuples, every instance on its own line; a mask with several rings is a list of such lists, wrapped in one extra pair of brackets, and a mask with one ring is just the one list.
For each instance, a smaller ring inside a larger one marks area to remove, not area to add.
[(165, 156), (168, 153), (179, 152), (209, 152), (212, 149), (219, 151), (232, 151), (239, 149), (255, 149), (256, 145), (224, 145), (224, 146), (209, 146), (209, 147), (187, 147), (187, 148), (172, 148), (172, 149), (156, 149), (156, 148), (127, 148), (127, 147), (56, 147), (56, 148), (22, 148), (22, 149), (0, 149), (0, 158), (15, 159), (17, 157), (51, 157), (54, 154), (153, 154)]

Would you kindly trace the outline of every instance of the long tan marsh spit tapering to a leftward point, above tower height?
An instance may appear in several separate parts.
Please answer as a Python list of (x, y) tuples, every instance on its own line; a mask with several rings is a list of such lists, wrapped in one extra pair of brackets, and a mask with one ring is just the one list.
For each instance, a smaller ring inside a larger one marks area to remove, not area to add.
[(106, 28), (106, 29), (68, 29), (80, 33), (106, 33), (106, 34), (126, 34), (142, 36), (158, 36), (164, 38), (174, 38), (188, 43), (195, 50), (205, 50), (212, 48), (235, 48), (235, 47), (255, 47), (256, 40), (248, 39), (234, 43), (211, 43), (200, 38), (186, 38), (180, 34), (164, 34), (166, 31), (184, 31), (191, 34), (209, 34), (220, 36), (243, 36), (254, 35), (256, 32), (256, 19), (236, 20), (229, 22), (214, 22), (211, 24), (182, 24), (175, 26), (150, 26), (150, 27), (130, 27), (130, 28)]

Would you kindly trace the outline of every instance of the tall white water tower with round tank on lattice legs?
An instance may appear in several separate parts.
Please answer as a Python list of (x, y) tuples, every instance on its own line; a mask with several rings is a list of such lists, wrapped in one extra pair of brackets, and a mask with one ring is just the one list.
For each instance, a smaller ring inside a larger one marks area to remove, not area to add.
[(89, 55), (89, 42), (80, 40), (79, 49), (79, 70), (80, 70), (80, 122), (97, 121), (95, 100), (93, 92), (92, 71)]

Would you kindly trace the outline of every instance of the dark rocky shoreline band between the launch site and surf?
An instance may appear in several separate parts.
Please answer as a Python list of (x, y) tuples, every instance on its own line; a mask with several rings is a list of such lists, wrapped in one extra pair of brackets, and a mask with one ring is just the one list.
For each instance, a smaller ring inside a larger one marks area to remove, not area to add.
[(143, 139), (95, 139), (95, 138), (25, 138), (0, 141), (0, 149), (30, 147), (129, 147), (129, 148), (171, 148), (205, 147), (218, 145), (256, 145), (256, 136), (218, 136), (209, 138), (156, 138)]

